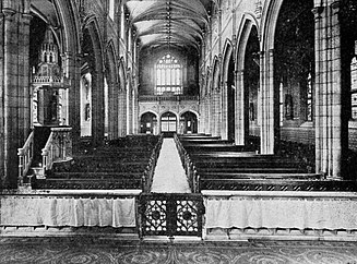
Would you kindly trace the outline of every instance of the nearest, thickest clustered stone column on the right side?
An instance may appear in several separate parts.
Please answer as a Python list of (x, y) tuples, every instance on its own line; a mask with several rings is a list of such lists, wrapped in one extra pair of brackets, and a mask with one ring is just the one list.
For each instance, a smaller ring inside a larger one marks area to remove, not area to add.
[(317, 7), (316, 15), (316, 169), (341, 179), (342, 68), (340, 1)]

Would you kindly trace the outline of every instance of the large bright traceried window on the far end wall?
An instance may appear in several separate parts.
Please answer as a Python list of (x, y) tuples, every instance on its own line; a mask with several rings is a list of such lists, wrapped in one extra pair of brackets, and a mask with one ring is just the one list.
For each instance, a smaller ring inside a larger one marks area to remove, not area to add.
[(172, 93), (182, 94), (182, 65), (167, 53), (156, 63), (156, 95)]

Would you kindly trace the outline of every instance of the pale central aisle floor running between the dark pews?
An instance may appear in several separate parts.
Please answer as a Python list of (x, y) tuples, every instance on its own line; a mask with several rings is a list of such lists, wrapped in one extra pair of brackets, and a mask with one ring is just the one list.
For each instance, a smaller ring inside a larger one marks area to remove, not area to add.
[(152, 192), (191, 192), (174, 139), (164, 139), (154, 172)]

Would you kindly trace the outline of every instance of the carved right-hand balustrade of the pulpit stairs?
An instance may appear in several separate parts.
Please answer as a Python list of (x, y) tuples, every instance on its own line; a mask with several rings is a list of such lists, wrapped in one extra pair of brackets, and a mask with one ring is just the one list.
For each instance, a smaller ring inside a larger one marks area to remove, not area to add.
[(51, 128), (51, 133), (43, 148), (43, 167), (50, 170), (55, 161), (72, 158), (72, 128)]

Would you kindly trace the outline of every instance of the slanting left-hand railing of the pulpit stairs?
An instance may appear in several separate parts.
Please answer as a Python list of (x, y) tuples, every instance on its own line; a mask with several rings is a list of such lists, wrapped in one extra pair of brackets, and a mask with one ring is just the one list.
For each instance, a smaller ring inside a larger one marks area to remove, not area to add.
[(17, 149), (19, 156), (19, 179), (17, 184), (23, 185), (24, 177), (26, 176), (34, 157), (34, 131), (28, 135), (24, 146)]

